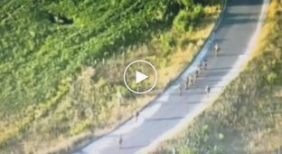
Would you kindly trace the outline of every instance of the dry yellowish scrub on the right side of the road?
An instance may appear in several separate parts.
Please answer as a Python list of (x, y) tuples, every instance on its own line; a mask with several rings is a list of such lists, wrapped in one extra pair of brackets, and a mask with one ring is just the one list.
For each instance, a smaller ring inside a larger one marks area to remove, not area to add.
[(258, 49), (211, 109), (154, 153), (277, 153), (282, 150), (282, 3), (271, 2)]

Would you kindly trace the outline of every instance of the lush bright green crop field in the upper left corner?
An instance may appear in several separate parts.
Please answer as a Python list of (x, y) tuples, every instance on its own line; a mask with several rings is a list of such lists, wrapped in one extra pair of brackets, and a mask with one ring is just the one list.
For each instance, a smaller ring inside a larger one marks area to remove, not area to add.
[(150, 24), (164, 24), (174, 5), (168, 0), (2, 1), (0, 117), (61, 95), (58, 85), (73, 80), (81, 66), (140, 41), (137, 36), (149, 36)]

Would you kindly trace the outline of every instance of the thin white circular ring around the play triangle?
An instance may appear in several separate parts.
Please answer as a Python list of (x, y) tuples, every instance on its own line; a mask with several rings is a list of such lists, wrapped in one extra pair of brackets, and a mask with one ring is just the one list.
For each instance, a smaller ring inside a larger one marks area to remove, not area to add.
[[(132, 64), (134, 64), (134, 63), (146, 63), (146, 64), (150, 65), (150, 66), (153, 68), (154, 72), (155, 72), (155, 82), (154, 82), (153, 86), (152, 86), (150, 89), (148, 89), (147, 91), (134, 91), (134, 90), (132, 90), (132, 89), (127, 85), (127, 80), (126, 80), (127, 70), (128, 70), (128, 68), (129, 68)], [(154, 65), (153, 65), (152, 63), (148, 63), (148, 62), (146, 62), (146, 61), (144, 61), (144, 60), (136, 60), (136, 61), (133, 61), (133, 62), (129, 63), (129, 64), (127, 65), (127, 67), (126, 67), (125, 72), (124, 72), (124, 82), (125, 82), (125, 84), (126, 84), (126, 86), (127, 86), (127, 89), (128, 89), (129, 91), (132, 91), (132, 92), (136, 93), (136, 94), (145, 94), (145, 93), (148, 92), (148, 91), (152, 91), (153, 88), (155, 87), (156, 82), (157, 82), (157, 73), (156, 73), (156, 70), (155, 70)]]

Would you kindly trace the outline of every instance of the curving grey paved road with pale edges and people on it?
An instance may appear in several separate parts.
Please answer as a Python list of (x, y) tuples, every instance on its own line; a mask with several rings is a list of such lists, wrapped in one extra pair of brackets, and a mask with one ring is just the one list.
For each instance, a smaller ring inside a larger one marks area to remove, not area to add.
[[(264, 16), (261, 10), (267, 8), (267, 5), (262, 7), (262, 4), (262, 0), (228, 0), (221, 24), (193, 64), (164, 94), (141, 111), (140, 119), (137, 122), (127, 121), (118, 130), (91, 142), (77, 153), (146, 153), (146, 149), (154, 147), (193, 120), (238, 74), (241, 65), (247, 62)], [(219, 57), (213, 55), (214, 43), (221, 46)], [(175, 91), (177, 84), (183, 82), (183, 78), (193, 72), (204, 57), (209, 62), (208, 70), (202, 72), (192, 88), (179, 96)], [(211, 86), (210, 96), (204, 91), (206, 85)], [(124, 140), (121, 149), (118, 148), (119, 134)]]

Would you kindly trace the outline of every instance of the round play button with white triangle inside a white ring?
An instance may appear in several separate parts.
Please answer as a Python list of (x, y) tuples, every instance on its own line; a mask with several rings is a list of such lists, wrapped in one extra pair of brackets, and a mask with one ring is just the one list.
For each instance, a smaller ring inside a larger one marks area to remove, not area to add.
[(129, 91), (142, 94), (154, 89), (157, 73), (153, 64), (137, 60), (127, 65), (124, 82)]

